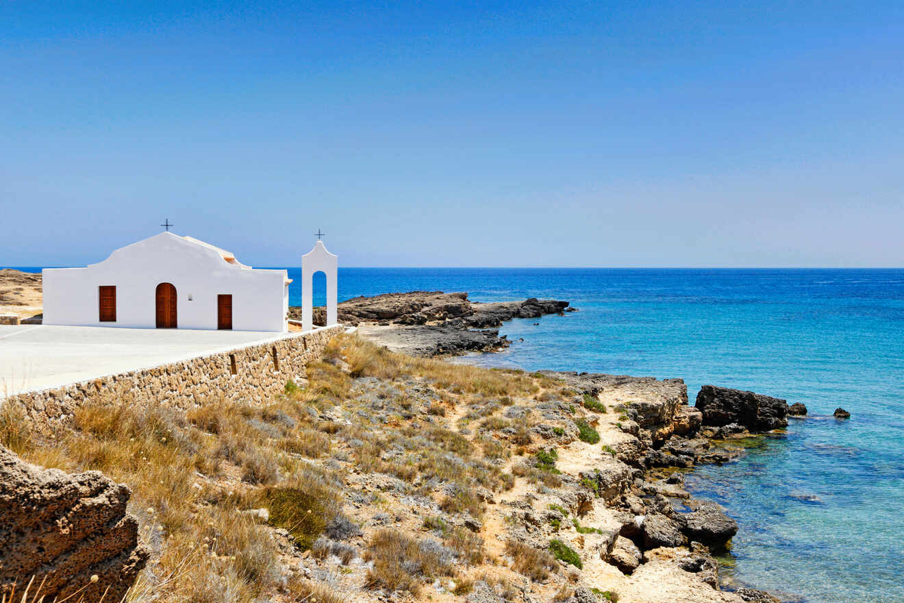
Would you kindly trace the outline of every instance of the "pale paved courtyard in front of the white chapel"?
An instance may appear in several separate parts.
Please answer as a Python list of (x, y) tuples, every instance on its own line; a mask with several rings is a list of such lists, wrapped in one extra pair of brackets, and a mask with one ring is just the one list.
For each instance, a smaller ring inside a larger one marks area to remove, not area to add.
[(225, 352), (294, 334), (0, 325), (0, 398)]

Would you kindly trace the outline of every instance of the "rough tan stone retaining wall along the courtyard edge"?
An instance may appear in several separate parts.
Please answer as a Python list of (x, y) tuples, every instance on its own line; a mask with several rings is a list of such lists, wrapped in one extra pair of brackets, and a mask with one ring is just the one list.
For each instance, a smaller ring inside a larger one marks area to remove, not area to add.
[(205, 400), (262, 403), (284, 391), (286, 382), (306, 378), (305, 365), (341, 334), (341, 325), (317, 329), (268, 344), (256, 344), (191, 360), (122, 372), (52, 390), (15, 394), (5, 402), (19, 407), (34, 424), (67, 422), (85, 400), (110, 395), (134, 403), (188, 410)]

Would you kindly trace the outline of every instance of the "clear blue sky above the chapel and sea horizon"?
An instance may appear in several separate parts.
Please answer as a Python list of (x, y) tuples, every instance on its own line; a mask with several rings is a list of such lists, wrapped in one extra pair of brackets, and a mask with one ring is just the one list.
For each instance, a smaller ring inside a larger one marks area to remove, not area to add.
[(0, 2), (0, 266), (904, 266), (904, 3)]

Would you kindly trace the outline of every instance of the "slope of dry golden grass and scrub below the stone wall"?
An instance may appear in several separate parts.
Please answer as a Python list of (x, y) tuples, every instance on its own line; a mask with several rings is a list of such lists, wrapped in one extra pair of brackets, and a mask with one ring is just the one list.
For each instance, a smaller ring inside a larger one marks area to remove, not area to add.
[[(2, 407), (0, 443), (30, 462), (98, 469), (132, 488), (130, 510), (153, 550), (133, 603), (348, 600), (323, 576), (300, 574), (298, 560), (358, 572), (357, 588), (371, 594), (417, 594), (437, 578), (454, 578), (457, 594), (478, 581), (513, 593), (507, 580), (550, 579), (557, 561), (514, 540), (504, 556), (500, 544), (488, 551), (462, 523), (486, 521), (488, 496), (513, 488), (515, 476), (560, 485), (532, 457), (538, 419), (530, 410), (503, 416), (560, 389), (542, 375), (412, 358), (343, 336), (307, 366), (306, 383), (287, 383), (264, 406), (204, 400), (179, 411), (103, 399), (53, 438)], [(516, 449), (528, 456), (513, 457)], [(353, 519), (363, 532), (344, 515), (350, 509), (362, 509)], [(297, 553), (290, 563), (287, 547)]]

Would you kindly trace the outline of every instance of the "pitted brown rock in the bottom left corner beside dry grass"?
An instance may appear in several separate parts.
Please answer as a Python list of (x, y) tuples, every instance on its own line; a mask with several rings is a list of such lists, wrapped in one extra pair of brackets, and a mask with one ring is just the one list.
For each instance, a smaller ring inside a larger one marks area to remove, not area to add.
[(131, 494), (99, 471), (43, 470), (0, 447), (0, 591), (34, 576), (46, 601), (86, 585), (85, 600), (107, 589), (104, 600), (120, 600), (148, 555), (126, 513)]

